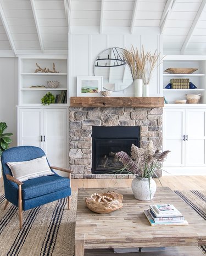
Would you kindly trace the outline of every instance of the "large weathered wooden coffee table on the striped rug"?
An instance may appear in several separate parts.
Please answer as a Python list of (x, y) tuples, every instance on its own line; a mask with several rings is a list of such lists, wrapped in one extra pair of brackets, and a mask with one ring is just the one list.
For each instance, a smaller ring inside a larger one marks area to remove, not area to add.
[[(110, 214), (91, 212), (85, 197), (108, 190), (123, 194), (123, 208)], [(171, 203), (187, 226), (151, 226), (143, 210), (149, 204)], [(206, 244), (206, 221), (168, 187), (158, 187), (152, 201), (138, 201), (131, 188), (80, 188), (77, 201), (75, 256), (86, 249), (199, 246)]]

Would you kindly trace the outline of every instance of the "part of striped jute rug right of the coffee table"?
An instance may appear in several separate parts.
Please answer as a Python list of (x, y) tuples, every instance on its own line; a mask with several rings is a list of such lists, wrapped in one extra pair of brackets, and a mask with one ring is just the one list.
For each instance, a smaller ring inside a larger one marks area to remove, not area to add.
[[(190, 190), (190, 191), (175, 191), (183, 201), (206, 220), (206, 191)], [(206, 246), (199, 246), (201, 251), (206, 255)]]

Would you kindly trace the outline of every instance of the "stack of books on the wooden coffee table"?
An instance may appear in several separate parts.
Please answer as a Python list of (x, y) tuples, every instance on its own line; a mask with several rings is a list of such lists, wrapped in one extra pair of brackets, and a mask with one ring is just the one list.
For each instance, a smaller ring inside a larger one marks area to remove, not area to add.
[(188, 225), (181, 212), (173, 204), (149, 205), (149, 209), (144, 210), (144, 214), (151, 226)]

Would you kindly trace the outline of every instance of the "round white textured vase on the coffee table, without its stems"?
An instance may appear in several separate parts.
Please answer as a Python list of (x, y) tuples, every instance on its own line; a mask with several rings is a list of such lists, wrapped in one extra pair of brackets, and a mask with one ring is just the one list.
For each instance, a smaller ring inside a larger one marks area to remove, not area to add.
[[(149, 186), (150, 179), (150, 186)], [(157, 190), (156, 182), (152, 178), (135, 177), (132, 180), (132, 192), (140, 201), (150, 201)]]

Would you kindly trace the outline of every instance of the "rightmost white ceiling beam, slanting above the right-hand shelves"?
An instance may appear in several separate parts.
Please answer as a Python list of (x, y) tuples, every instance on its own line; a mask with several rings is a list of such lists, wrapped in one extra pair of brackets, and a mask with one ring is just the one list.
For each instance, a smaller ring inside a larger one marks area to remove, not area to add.
[(191, 26), (191, 28), (190, 28), (190, 30), (189, 30), (186, 38), (185, 38), (185, 42), (182, 44), (182, 48), (181, 48), (181, 51), (180, 51), (181, 54), (183, 54), (185, 52), (185, 49), (187, 48), (188, 43), (191, 40), (191, 37), (192, 37), (193, 32), (194, 32), (194, 29), (197, 26), (197, 23), (199, 21), (199, 18), (201, 17), (201, 14), (203, 13), (205, 4), (206, 4), (206, 0), (203, 0), (202, 3), (201, 3), (201, 6), (199, 7), (199, 10), (198, 10), (198, 12), (196, 14), (196, 17), (194, 18), (192, 26)]

